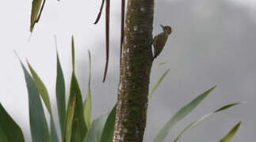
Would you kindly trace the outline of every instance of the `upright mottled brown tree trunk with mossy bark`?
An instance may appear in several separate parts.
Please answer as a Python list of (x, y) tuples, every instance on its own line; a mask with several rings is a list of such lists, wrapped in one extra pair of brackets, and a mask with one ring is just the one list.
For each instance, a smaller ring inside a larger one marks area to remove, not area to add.
[(113, 142), (142, 142), (152, 65), (154, 0), (128, 0)]

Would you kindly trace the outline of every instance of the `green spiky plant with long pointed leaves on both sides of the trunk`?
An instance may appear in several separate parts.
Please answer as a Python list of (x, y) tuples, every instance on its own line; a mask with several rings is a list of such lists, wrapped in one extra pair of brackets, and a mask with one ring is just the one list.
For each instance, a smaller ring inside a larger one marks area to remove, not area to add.
[[(33, 142), (111, 142), (113, 140), (113, 130), (116, 114), (116, 105), (107, 114), (102, 114), (94, 121), (91, 121), (91, 93), (90, 93), (90, 77), (91, 77), (91, 58), (90, 51), (89, 62), (90, 62), (90, 72), (88, 88), (86, 93), (86, 99), (82, 100), (82, 94), (79, 88), (78, 80), (75, 76), (75, 43), (72, 37), (72, 76), (71, 76), (71, 89), (68, 98), (68, 103), (66, 107), (65, 99), (65, 80), (63, 76), (63, 70), (60, 65), (59, 55), (57, 57), (57, 77), (55, 86), (55, 95), (57, 100), (58, 114), (59, 114), (59, 125), (58, 128), (61, 132), (61, 136), (56, 133), (55, 122), (53, 121), (51, 100), (49, 99), (48, 90), (45, 87), (40, 77), (36, 74), (36, 71), (32, 69), (32, 65), (27, 62), (29, 70), (25, 68), (25, 64), (21, 62), (21, 67), (25, 74), (25, 81), (27, 84), (28, 94), (29, 94), (29, 120), (30, 129)], [(30, 71), (30, 73), (29, 73)], [(169, 72), (167, 69), (159, 81), (155, 84), (154, 88), (151, 90), (149, 99), (155, 93), (159, 85), (162, 83), (164, 77)], [(190, 103), (187, 103), (182, 107), (169, 121), (166, 125), (159, 131), (155, 136), (153, 142), (162, 142), (174, 125), (178, 123), (182, 118), (185, 118), (192, 110), (194, 110), (203, 99), (205, 99), (210, 92), (214, 89), (210, 88), (201, 95), (198, 95)], [(48, 122), (45, 118), (44, 106), (47, 108), (47, 113), (50, 114), (50, 128), (48, 128)], [(196, 121), (192, 121), (190, 125), (185, 127), (183, 131), (174, 139), (174, 142), (182, 141), (181, 136), (193, 129), (194, 126), (198, 125), (205, 118), (208, 118), (212, 114), (219, 113), (220, 111), (227, 110), (230, 107), (234, 107), (240, 103), (231, 103), (220, 107), (212, 111), (209, 114), (204, 115)], [(0, 103), (0, 141), (1, 142), (17, 142), (25, 141), (24, 136), (21, 132), (20, 127), (6, 112), (2, 104)], [(235, 132), (239, 129), (240, 122), (231, 129), (220, 142), (229, 142), (231, 138), (235, 135)]]

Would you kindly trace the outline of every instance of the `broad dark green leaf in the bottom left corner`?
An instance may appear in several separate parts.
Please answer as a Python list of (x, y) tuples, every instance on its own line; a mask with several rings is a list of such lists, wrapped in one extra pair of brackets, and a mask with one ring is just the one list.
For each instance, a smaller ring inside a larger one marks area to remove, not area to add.
[(17, 125), (10, 114), (6, 112), (0, 103), (0, 141), (2, 142), (25, 142), (21, 128)]

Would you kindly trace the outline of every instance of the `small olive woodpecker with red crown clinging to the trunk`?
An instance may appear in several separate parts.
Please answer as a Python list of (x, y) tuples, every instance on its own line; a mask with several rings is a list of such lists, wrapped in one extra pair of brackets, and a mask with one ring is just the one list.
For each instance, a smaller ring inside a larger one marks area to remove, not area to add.
[(163, 32), (159, 33), (159, 35), (155, 36), (153, 39), (153, 47), (154, 47), (153, 60), (159, 56), (163, 47), (166, 44), (168, 36), (172, 32), (172, 28), (170, 26), (163, 26), (162, 24), (160, 24), (160, 26), (162, 27)]

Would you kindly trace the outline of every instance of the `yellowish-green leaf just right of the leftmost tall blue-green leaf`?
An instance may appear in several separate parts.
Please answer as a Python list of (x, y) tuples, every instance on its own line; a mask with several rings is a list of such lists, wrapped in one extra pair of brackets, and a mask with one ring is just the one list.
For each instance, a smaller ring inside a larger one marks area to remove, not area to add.
[(51, 102), (49, 99), (49, 94), (48, 94), (47, 88), (45, 87), (44, 82), (37, 75), (36, 71), (34, 69), (32, 69), (32, 66), (29, 64), (29, 62), (27, 62), (27, 63), (29, 65), (29, 70), (32, 74), (32, 78), (36, 84), (36, 88), (37, 88), (38, 92), (40, 93), (46, 108), (48, 109), (48, 113), (50, 114), (52, 142), (58, 142), (59, 139), (58, 139), (57, 132), (55, 129), (55, 123), (54, 123), (53, 116), (52, 116)]

